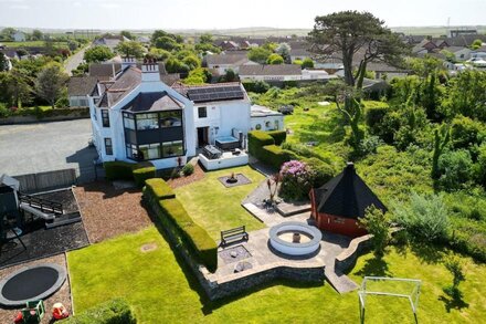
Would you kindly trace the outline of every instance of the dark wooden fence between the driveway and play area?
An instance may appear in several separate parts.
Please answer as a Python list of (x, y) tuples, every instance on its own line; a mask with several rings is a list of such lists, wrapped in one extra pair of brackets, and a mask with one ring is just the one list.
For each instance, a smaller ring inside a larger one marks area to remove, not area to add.
[(39, 174), (13, 176), (20, 181), (22, 192), (38, 192), (43, 190), (71, 187), (76, 184), (75, 169), (62, 169)]

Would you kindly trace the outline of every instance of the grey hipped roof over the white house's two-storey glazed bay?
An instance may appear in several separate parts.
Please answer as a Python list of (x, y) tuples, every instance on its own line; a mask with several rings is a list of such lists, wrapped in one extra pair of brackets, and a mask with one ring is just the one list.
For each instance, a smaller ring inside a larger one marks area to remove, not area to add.
[(122, 109), (133, 113), (176, 111), (183, 107), (182, 103), (167, 92), (139, 93)]

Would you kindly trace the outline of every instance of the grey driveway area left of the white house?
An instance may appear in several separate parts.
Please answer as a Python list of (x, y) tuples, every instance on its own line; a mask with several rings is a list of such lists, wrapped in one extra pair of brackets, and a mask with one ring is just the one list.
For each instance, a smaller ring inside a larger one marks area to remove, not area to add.
[(94, 177), (96, 149), (88, 147), (89, 119), (0, 126), (0, 174), (10, 176), (75, 168)]

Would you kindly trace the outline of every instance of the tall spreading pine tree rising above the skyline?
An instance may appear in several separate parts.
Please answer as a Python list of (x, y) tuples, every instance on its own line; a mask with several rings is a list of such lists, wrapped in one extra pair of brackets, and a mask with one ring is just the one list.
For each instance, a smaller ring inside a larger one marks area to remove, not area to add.
[[(316, 54), (342, 59), (345, 82), (357, 88), (362, 87), (369, 62), (398, 65), (408, 52), (406, 45), (384, 25), (384, 21), (370, 12), (341, 11), (316, 17), (309, 41)], [(353, 61), (357, 60), (355, 73)]]

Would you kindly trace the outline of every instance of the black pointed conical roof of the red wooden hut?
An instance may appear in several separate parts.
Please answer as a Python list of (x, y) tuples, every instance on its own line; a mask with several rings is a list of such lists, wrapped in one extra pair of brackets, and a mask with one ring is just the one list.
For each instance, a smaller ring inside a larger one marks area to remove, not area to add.
[(356, 174), (353, 164), (348, 164), (342, 173), (318, 189), (314, 189), (315, 203), (319, 213), (346, 218), (362, 218), (364, 210), (374, 207), (385, 211), (364, 181)]

